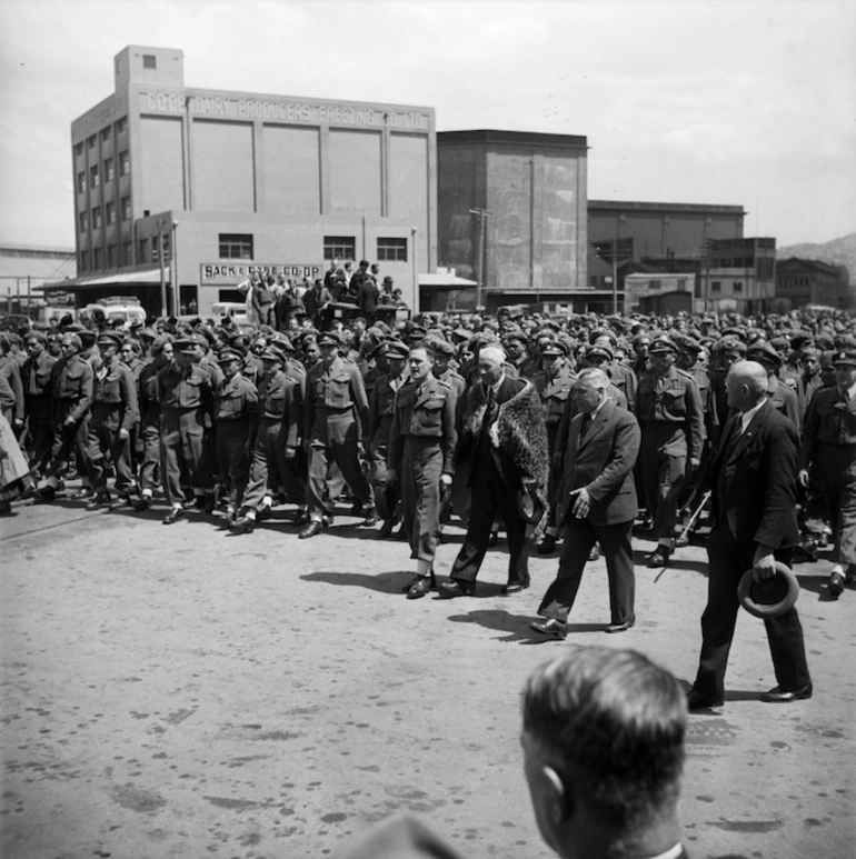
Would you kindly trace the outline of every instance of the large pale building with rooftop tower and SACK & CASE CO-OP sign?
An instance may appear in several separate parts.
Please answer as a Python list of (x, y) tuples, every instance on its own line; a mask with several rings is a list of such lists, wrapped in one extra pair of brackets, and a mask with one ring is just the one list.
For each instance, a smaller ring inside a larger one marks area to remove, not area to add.
[(130, 46), (71, 147), (81, 304), (121, 292), (158, 314), (166, 280), (171, 311), (205, 313), (249, 273), (339, 257), (377, 261), (414, 307), (436, 268), (432, 108), (188, 88), (180, 50)]

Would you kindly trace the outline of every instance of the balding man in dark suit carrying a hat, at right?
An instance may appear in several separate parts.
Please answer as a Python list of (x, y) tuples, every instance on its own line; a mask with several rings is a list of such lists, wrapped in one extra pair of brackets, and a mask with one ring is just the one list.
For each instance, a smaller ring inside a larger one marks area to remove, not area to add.
[[(756, 581), (790, 565), (799, 542), (796, 516), (797, 430), (767, 400), (767, 372), (738, 361), (726, 378), (728, 406), (719, 449), (710, 466), (714, 528), (707, 543), (707, 607), (701, 616), (701, 656), (689, 692), (690, 710), (723, 705), (725, 669), (737, 622), (737, 586), (753, 569)], [(803, 627), (796, 608), (764, 621), (778, 686), (762, 701), (812, 697)]]

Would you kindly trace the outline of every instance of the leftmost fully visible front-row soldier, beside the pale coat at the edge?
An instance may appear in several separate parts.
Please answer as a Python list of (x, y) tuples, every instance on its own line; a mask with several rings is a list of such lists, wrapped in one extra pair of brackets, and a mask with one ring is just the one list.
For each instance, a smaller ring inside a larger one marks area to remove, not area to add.
[[(37, 492), (36, 503), (53, 501), (59, 481), (68, 471), (71, 452), (83, 449), (88, 439), (87, 416), (92, 404), (94, 373), (80, 354), (82, 343), (78, 334), (63, 334), (60, 347), (62, 358), (53, 364), (50, 377), (53, 404), (50, 467), (47, 482)], [(79, 468), (84, 468), (82, 461)]]

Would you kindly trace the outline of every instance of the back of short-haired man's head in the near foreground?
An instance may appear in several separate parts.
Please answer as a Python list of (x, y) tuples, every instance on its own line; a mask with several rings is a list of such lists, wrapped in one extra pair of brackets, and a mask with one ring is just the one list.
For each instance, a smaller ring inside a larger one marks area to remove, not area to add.
[(676, 847), (686, 719), (677, 680), (633, 650), (579, 648), (536, 669), (521, 743), (545, 841), (561, 857)]

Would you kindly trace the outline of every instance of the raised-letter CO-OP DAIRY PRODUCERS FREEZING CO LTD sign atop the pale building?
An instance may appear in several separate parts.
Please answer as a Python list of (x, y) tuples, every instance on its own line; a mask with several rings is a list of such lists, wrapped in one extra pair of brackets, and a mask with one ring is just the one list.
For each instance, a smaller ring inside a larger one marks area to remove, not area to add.
[(141, 92), (141, 113), (190, 113), (205, 119), (267, 120), (307, 126), (369, 126), (428, 131), (428, 113), (374, 104), (313, 102), (270, 97)]

